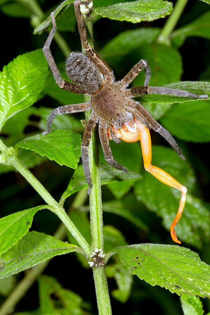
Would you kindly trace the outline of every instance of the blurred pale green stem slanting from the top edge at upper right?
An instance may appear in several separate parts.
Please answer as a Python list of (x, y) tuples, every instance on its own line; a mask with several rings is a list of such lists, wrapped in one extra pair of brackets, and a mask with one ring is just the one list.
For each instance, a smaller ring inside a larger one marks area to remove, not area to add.
[(187, 2), (188, 0), (177, 0), (172, 14), (169, 16), (168, 20), (166, 21), (166, 24), (164, 25), (157, 39), (158, 43), (163, 43), (166, 45), (170, 44), (170, 35), (174, 30), (182, 12), (184, 11)]

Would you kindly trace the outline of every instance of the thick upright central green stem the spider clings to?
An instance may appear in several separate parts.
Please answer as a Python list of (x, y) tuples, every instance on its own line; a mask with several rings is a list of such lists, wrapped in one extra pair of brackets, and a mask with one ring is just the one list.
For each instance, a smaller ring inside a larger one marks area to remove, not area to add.
[[(87, 22), (89, 30), (88, 42), (93, 47), (93, 23)], [(82, 47), (83, 53), (84, 48)], [(85, 102), (88, 97), (85, 96)], [(86, 119), (90, 118), (91, 113), (86, 113)], [(101, 196), (101, 179), (99, 172), (99, 150), (98, 150), (98, 130), (95, 128), (90, 139), (88, 149), (90, 175), (92, 179), (92, 189), (90, 192), (90, 230), (91, 230), (91, 250), (95, 252), (96, 249), (103, 250), (103, 213), (102, 213), (102, 196)], [(96, 290), (96, 299), (99, 315), (111, 315), (112, 308), (109, 298), (109, 290), (107, 283), (107, 275), (105, 266), (93, 267), (93, 277)]]

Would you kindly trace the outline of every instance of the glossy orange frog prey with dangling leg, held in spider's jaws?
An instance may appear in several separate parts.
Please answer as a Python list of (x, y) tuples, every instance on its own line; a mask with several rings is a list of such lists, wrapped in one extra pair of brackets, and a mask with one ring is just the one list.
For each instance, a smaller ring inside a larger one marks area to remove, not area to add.
[[(131, 123), (130, 125), (129, 123), (127, 123), (126, 127), (124, 126), (123, 128), (121, 128), (120, 139), (125, 142), (136, 142), (137, 140), (140, 140), (144, 168), (153, 176), (155, 176), (158, 180), (160, 180), (162, 183), (168, 186), (177, 188), (182, 193), (177, 215), (175, 219), (173, 220), (172, 225), (170, 227), (172, 240), (180, 244), (181, 242), (178, 240), (176, 232), (175, 232), (175, 226), (177, 225), (179, 219), (181, 218), (182, 212), (184, 210), (187, 188), (181, 185), (177, 180), (175, 180), (171, 175), (166, 173), (163, 169), (160, 169), (159, 167), (153, 166), (151, 164), (152, 146), (151, 146), (151, 137), (150, 137), (149, 129), (143, 123), (139, 122), (137, 119), (134, 119), (133, 126), (131, 126)], [(119, 135), (119, 130), (118, 130), (118, 135)]]

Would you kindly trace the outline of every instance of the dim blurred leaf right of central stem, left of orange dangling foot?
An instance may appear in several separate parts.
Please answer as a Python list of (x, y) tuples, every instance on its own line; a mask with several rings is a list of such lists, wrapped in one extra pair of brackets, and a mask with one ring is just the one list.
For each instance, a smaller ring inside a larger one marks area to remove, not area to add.
[(141, 208), (142, 205), (136, 202), (133, 195), (126, 195), (121, 200), (111, 200), (103, 203), (103, 212), (119, 215), (147, 232), (148, 227), (140, 219)]

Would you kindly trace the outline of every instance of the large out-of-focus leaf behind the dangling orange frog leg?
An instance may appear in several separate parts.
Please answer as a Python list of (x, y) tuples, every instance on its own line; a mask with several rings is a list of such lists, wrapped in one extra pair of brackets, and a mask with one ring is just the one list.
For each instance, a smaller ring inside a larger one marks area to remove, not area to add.
[[(190, 195), (195, 185), (192, 170), (187, 162), (182, 161), (170, 148), (153, 146), (152, 152), (152, 164), (164, 169), (188, 188), (185, 208), (176, 226), (178, 238), (201, 248), (202, 241), (210, 235), (210, 214), (199, 199)], [(163, 225), (169, 230), (178, 211), (181, 193), (161, 183), (148, 172), (145, 172), (143, 176), (143, 180), (135, 185), (137, 199), (142, 201), (150, 211), (162, 217)]]

